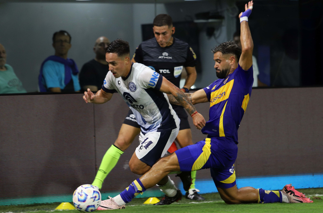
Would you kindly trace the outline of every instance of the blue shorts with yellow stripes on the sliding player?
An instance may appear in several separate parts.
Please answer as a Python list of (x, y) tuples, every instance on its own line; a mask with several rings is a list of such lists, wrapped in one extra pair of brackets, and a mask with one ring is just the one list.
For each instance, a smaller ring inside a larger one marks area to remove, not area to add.
[(181, 171), (210, 168), (216, 187), (231, 188), (236, 184), (234, 161), (238, 146), (222, 137), (208, 137), (175, 151)]

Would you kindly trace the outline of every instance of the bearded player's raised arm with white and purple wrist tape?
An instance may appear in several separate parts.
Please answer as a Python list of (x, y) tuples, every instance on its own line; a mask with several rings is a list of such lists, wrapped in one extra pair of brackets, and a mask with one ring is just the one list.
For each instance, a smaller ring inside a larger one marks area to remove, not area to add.
[(248, 17), (253, 8), (253, 1), (245, 4), (245, 12), (239, 14), (240, 18), (240, 41), (241, 41), (241, 56), (239, 65), (242, 69), (248, 70), (252, 66), (252, 51), (254, 49), (254, 42), (252, 41), (251, 32), (248, 25)]

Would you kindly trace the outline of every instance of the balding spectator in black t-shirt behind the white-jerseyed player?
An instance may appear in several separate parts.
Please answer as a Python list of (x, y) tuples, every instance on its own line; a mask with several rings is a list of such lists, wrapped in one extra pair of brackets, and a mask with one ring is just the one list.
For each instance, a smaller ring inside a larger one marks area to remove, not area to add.
[(94, 44), (95, 58), (85, 63), (79, 74), (81, 89), (98, 91), (102, 88), (103, 80), (109, 71), (108, 62), (105, 60), (105, 49), (110, 44), (107, 37), (99, 37)]

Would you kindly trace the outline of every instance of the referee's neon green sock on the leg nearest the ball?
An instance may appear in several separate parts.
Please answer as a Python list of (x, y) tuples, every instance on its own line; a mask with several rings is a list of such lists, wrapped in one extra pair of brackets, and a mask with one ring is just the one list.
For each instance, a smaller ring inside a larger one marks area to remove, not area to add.
[(123, 152), (112, 144), (102, 158), (99, 170), (92, 183), (93, 186), (97, 186), (99, 189), (102, 188), (104, 179), (117, 164), (121, 154)]

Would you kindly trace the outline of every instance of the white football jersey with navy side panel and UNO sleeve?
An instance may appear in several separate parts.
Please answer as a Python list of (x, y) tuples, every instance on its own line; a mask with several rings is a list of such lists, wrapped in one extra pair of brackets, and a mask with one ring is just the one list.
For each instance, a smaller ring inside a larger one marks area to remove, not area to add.
[(102, 89), (113, 93), (117, 91), (136, 116), (141, 131), (159, 132), (176, 128), (180, 119), (172, 109), (167, 95), (159, 91), (162, 76), (149, 67), (132, 63), (126, 78), (115, 78), (107, 73)]

